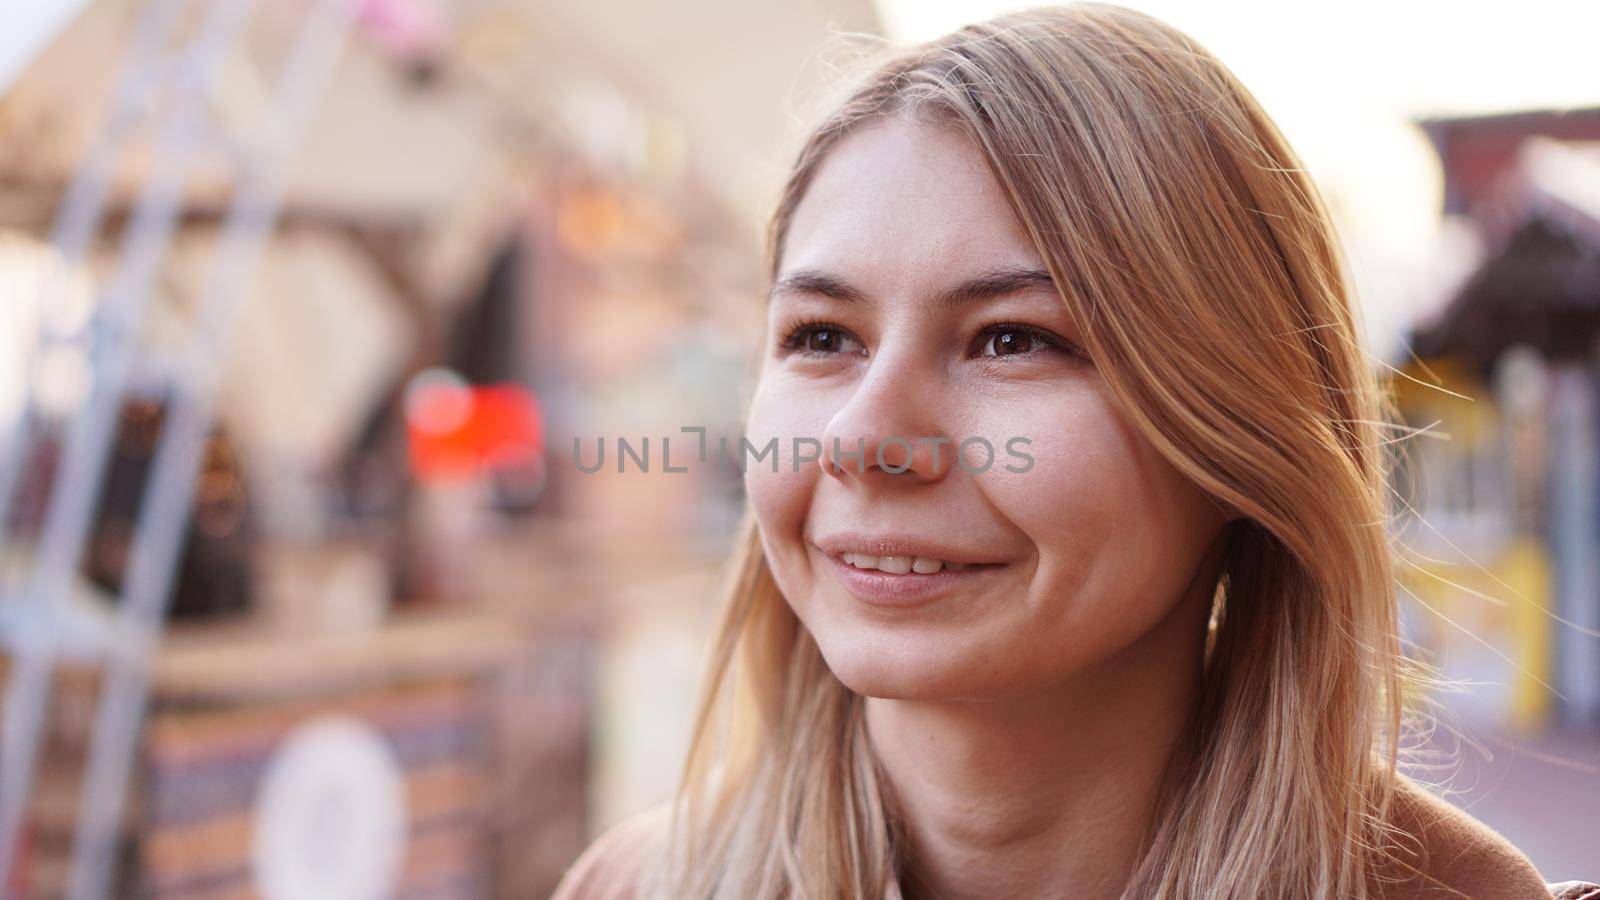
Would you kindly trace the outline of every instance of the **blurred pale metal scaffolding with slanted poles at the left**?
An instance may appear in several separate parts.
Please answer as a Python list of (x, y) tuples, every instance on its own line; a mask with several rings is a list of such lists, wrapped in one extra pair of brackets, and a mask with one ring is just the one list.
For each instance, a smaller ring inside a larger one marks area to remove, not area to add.
[[(250, 133), (240, 135), (237, 127), (213, 115), (211, 96), (224, 66), (243, 53), (240, 37), (253, 6), (253, 0), (152, 0), (142, 10), (110, 114), (78, 165), (56, 218), (53, 243), (59, 266), (43, 282), (40, 309), (59, 296), (67, 272), (82, 263), (96, 239), (112, 165), (134, 125), (154, 109), (154, 170), (141, 186), (115, 267), (98, 290), (88, 333), (74, 338), (90, 352), (90, 391), (67, 426), (43, 525), (30, 543), (22, 572), (0, 585), (0, 647), (10, 657), (0, 725), (0, 884), (6, 884), (16, 862), (54, 669), (58, 661), (70, 658), (96, 663), (104, 677), (77, 806), (69, 897), (90, 900), (110, 894), (152, 653), (189, 525), (190, 495), (218, 381), (246, 296), (245, 285), (272, 232), (288, 159), (346, 45), (355, 13), (352, 0), (307, 5), (294, 22), (272, 101), (261, 120), (250, 125)], [(171, 46), (186, 16), (198, 16), (198, 27)], [(163, 102), (154, 104), (152, 98)], [(163, 368), (171, 373), (165, 386), (171, 400), (139, 504), (120, 597), (115, 604), (85, 601), (74, 594), (72, 585), (93, 525), (130, 375), (147, 352), (138, 343), (139, 325), (173, 242), (189, 171), (208, 141), (232, 151), (234, 195), (208, 277), (195, 298), (192, 333), (174, 365)], [(42, 333), (40, 340), (46, 336)], [(32, 396), (27, 391), (29, 399), (0, 455), (0, 546), (21, 543), (6, 535), (6, 525), (40, 424)]]

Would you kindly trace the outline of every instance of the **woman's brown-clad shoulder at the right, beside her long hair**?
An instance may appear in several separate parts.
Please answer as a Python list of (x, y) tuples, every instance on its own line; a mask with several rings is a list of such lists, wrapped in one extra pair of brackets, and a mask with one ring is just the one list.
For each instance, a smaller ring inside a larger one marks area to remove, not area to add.
[(1379, 897), (1550, 897), (1510, 841), (1411, 778), (1398, 778), (1389, 820), (1398, 834), (1379, 866)]

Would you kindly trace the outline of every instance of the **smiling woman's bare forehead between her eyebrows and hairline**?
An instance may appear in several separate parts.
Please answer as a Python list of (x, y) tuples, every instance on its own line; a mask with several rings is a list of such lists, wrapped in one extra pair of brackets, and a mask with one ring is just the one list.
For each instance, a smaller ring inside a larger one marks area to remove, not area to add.
[(965, 135), (891, 117), (859, 127), (800, 200), (782, 269), (890, 283), (1040, 267), (982, 152)]

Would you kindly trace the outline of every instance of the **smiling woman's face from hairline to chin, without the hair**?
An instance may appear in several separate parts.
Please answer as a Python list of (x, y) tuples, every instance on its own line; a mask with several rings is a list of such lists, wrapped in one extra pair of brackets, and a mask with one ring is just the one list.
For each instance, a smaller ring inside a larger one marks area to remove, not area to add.
[(1203, 613), (1176, 610), (1224, 516), (1131, 428), (1080, 336), (963, 136), (888, 119), (822, 162), (747, 423), (778, 471), (747, 455), (746, 485), (779, 589), (850, 689), (1030, 692), (1178, 620), (1200, 647)]

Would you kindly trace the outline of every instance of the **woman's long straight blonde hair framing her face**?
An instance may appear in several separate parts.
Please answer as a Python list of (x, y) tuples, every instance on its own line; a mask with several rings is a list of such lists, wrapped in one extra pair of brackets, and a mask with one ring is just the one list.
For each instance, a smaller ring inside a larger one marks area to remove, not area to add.
[[(1128, 897), (1365, 897), (1408, 685), (1384, 416), (1331, 219), (1206, 50), (1075, 3), (901, 51), (806, 139), (784, 237), (842, 138), (891, 115), (966, 135), (1062, 285), (1133, 424), (1240, 516), (1200, 700)], [(883, 895), (902, 860), (862, 698), (829, 671), (747, 516), (672, 817), (670, 897)], [(1197, 636), (1198, 637), (1198, 636)]]

